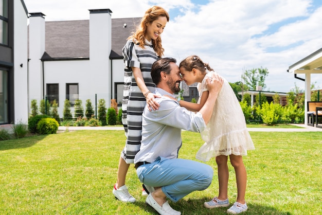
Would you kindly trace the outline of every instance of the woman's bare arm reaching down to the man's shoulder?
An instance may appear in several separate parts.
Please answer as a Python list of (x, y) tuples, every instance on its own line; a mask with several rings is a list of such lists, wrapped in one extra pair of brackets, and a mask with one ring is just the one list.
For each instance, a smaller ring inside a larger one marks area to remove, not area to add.
[(155, 101), (154, 98), (160, 97), (160, 96), (157, 96), (149, 91), (146, 83), (144, 82), (140, 68), (138, 68), (138, 67), (131, 67), (131, 68), (132, 68), (133, 75), (134, 75), (135, 81), (137, 83), (137, 86), (139, 87), (142, 94), (146, 97), (149, 111), (151, 111), (151, 108), (153, 110), (157, 110), (160, 105), (159, 105), (159, 103), (157, 103)]

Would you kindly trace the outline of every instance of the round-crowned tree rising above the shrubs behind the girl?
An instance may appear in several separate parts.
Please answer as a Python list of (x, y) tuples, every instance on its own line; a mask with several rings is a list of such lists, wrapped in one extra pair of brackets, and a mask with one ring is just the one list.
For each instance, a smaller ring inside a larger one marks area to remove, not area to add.
[(267, 75), (269, 75), (267, 68), (253, 68), (251, 70), (245, 70), (242, 79), (249, 89), (255, 91), (256, 86), (262, 86), (262, 89), (266, 88), (265, 78)]

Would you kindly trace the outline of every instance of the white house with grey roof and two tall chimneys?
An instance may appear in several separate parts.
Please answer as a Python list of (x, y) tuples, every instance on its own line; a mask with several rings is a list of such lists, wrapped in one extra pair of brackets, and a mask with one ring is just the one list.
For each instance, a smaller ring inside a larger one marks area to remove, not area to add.
[(32, 99), (56, 99), (61, 118), (65, 99), (72, 106), (75, 99), (83, 106), (87, 99), (94, 107), (99, 99), (107, 106), (111, 99), (121, 105), (121, 50), (141, 18), (112, 19), (110, 9), (89, 11), (90, 20), (57, 22), (45, 22), (41, 12), (30, 13), (29, 113)]

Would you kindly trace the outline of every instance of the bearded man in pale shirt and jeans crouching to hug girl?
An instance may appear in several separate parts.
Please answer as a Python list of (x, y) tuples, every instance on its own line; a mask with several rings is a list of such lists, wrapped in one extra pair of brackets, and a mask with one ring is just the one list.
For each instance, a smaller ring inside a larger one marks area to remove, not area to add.
[(179, 159), (182, 145), (181, 130), (202, 132), (206, 128), (223, 79), (213, 75), (206, 80), (209, 96), (197, 112), (182, 108), (167, 96), (175, 97), (182, 81), (180, 70), (173, 58), (162, 58), (152, 65), (151, 76), (156, 84), (155, 98), (158, 110), (149, 111), (147, 103), (142, 114), (142, 140), (135, 155), (136, 173), (145, 190), (149, 192), (146, 203), (159, 214), (181, 214), (172, 209), (166, 198), (177, 202), (195, 190), (204, 190), (212, 181), (213, 170), (209, 165), (193, 160)]

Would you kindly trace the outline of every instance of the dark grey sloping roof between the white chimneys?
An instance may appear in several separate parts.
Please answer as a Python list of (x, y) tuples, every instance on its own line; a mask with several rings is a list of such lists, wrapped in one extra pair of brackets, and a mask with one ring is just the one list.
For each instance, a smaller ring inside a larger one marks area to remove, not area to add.
[[(141, 18), (112, 19), (110, 59), (122, 59), (122, 48)], [(126, 27), (123, 27), (126, 24)], [(88, 59), (90, 57), (90, 21), (46, 22), (46, 45), (42, 60)]]

